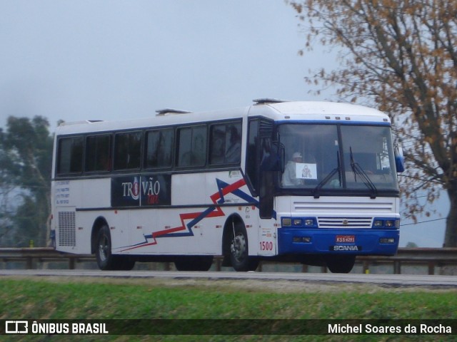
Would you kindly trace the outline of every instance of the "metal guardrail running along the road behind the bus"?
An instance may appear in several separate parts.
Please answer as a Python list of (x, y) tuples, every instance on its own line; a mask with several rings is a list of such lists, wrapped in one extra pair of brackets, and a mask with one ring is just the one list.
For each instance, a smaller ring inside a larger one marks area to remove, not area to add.
[[(68, 254), (57, 252), (50, 247), (36, 248), (0, 248), (0, 264), (10, 262), (25, 262), (26, 269), (34, 269), (39, 263), (46, 262), (66, 262), (69, 269), (75, 269), (76, 264), (82, 262), (95, 262), (95, 257), (90, 254)], [(262, 271), (264, 266), (271, 264), (271, 261), (263, 261), (258, 271)], [(368, 273), (371, 266), (391, 265), (393, 274), (401, 274), (402, 266), (419, 265), (428, 268), (428, 274), (435, 274), (437, 267), (456, 266), (457, 267), (457, 248), (399, 248), (398, 253), (393, 257), (384, 256), (359, 256), (356, 265), (363, 267), (363, 273)], [(221, 259), (215, 260), (216, 271), (221, 271)], [(170, 264), (166, 263), (162, 269), (170, 269)], [(308, 266), (303, 265), (301, 271), (307, 272)], [(326, 272), (326, 267), (321, 267), (321, 272)]]

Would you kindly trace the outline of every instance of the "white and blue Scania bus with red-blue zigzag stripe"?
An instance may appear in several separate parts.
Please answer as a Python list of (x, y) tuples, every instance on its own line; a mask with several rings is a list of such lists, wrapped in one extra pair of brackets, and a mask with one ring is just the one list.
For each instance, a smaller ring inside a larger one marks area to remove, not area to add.
[(386, 114), (342, 103), (63, 123), (56, 249), (95, 254), (103, 270), (206, 271), (220, 256), (236, 271), (275, 260), (348, 272), (357, 255), (396, 254), (400, 151)]

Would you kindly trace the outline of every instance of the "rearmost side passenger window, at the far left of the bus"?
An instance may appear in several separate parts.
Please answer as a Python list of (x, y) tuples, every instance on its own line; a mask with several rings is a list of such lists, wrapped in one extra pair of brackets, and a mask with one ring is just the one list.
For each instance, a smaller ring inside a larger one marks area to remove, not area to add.
[(57, 173), (80, 173), (83, 170), (83, 138), (59, 139)]

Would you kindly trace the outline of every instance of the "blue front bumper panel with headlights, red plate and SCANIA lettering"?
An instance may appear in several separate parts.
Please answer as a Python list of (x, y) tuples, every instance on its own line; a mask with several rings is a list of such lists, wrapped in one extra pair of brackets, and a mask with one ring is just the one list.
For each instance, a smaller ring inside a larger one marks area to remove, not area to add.
[(279, 228), (278, 254), (393, 255), (399, 237), (398, 229)]

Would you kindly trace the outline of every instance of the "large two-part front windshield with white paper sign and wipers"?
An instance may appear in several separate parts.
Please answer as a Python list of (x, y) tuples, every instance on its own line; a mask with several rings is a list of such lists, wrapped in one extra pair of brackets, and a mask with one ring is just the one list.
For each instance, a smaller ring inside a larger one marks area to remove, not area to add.
[(283, 189), (398, 191), (391, 128), (379, 125), (284, 124)]

